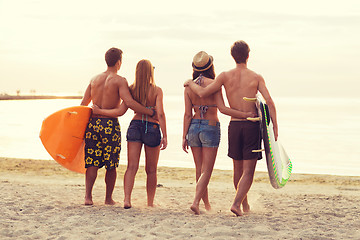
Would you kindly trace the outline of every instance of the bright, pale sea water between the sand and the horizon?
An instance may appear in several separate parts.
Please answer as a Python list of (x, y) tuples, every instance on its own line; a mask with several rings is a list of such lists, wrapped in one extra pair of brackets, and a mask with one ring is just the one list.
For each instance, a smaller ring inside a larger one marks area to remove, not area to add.
[[(360, 98), (274, 98), (279, 124), (279, 140), (292, 163), (293, 172), (360, 176)], [(80, 100), (0, 101), (0, 156), (51, 159), (42, 146), (39, 131), (42, 120), (51, 113), (79, 105)], [(181, 147), (184, 113), (182, 96), (164, 96), (168, 148), (161, 151), (159, 166), (193, 168), (191, 153)], [(126, 164), (126, 130), (133, 116), (120, 118), (122, 152)], [(217, 169), (232, 169), (227, 157), (227, 126), (230, 117), (219, 113), (221, 143), (215, 163)], [(144, 154), (140, 164), (144, 164)], [(265, 160), (257, 171), (266, 171)]]

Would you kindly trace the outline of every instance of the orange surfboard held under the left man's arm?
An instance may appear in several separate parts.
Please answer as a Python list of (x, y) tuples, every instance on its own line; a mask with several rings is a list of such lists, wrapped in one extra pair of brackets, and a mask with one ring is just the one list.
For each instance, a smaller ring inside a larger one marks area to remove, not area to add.
[(69, 107), (44, 119), (40, 139), (51, 157), (63, 167), (85, 173), (84, 135), (91, 108)]

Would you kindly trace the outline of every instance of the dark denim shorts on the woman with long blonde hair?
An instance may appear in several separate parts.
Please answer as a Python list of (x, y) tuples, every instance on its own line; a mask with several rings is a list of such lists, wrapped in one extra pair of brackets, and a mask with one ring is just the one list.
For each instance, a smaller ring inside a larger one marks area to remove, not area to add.
[(160, 126), (153, 122), (132, 120), (126, 133), (126, 140), (157, 147), (161, 142)]

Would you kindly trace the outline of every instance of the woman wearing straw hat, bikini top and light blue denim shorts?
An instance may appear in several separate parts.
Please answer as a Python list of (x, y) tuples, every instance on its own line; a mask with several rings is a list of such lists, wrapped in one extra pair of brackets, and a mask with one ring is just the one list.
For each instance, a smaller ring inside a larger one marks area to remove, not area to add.
[[(192, 62), (193, 81), (205, 87), (215, 79), (213, 57), (206, 52), (197, 53)], [(200, 200), (205, 204), (205, 209), (210, 210), (207, 186), (214, 168), (217, 150), (220, 143), (220, 123), (217, 109), (221, 113), (238, 117), (254, 117), (253, 113), (245, 113), (225, 106), (221, 91), (200, 98), (190, 88), (185, 88), (185, 113), (183, 127), (183, 150), (188, 148), (194, 157), (196, 169), (196, 194), (190, 209), (195, 214), (200, 214)], [(194, 112), (193, 112), (194, 109)]]

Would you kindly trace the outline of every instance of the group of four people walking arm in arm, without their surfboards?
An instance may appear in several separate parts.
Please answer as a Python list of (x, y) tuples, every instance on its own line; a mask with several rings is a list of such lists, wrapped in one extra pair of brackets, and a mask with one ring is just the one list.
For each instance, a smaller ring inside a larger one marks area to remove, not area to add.
[[(236, 190), (230, 210), (241, 216), (249, 212), (247, 193), (252, 185), (257, 160), (261, 152), (259, 122), (254, 102), (243, 97), (256, 97), (258, 92), (269, 106), (275, 139), (278, 128), (274, 102), (263, 77), (247, 68), (250, 48), (244, 41), (236, 41), (231, 55), (236, 67), (215, 77), (213, 57), (204, 51), (197, 53), (192, 62), (193, 78), (184, 83), (185, 113), (182, 148), (191, 148), (196, 168), (196, 193), (190, 209), (200, 214), (203, 200), (206, 210), (211, 209), (208, 184), (214, 168), (220, 143), (220, 123), (217, 110), (231, 116), (228, 127), (228, 156), (233, 159), (233, 181)], [(122, 51), (110, 48), (105, 54), (107, 70), (91, 79), (81, 105), (92, 101), (92, 116), (85, 132), (85, 205), (92, 205), (92, 189), (99, 168), (105, 166), (105, 204), (113, 205), (116, 168), (121, 150), (121, 132), (118, 117), (128, 108), (134, 111), (126, 133), (128, 164), (124, 175), (124, 208), (131, 208), (131, 193), (139, 168), (142, 146), (145, 149), (147, 174), (147, 205), (154, 205), (157, 186), (157, 164), (160, 150), (167, 147), (166, 118), (162, 89), (155, 85), (154, 67), (149, 60), (140, 60), (136, 66), (135, 81), (130, 86), (117, 74), (122, 64)], [(230, 107), (225, 106), (225, 89)], [(122, 101), (121, 101), (122, 100)], [(242, 207), (242, 210), (241, 210)]]

